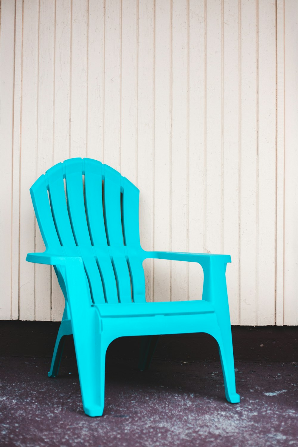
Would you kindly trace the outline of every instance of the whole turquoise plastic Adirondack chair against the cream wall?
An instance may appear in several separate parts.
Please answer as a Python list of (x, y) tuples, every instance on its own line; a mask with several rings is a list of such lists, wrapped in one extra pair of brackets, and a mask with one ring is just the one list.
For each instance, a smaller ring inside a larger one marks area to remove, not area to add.
[[(46, 251), (29, 253), (26, 260), (53, 265), (65, 297), (48, 375), (58, 374), (64, 336), (73, 334), (86, 414), (101, 416), (104, 410), (109, 344), (133, 335), (143, 336), (143, 370), (159, 335), (209, 333), (218, 342), (227, 401), (240, 401), (225, 275), (230, 256), (143, 250), (138, 188), (97, 160), (72, 158), (56, 164), (35, 181), (30, 193)], [(146, 258), (201, 264), (202, 299), (147, 303)]]

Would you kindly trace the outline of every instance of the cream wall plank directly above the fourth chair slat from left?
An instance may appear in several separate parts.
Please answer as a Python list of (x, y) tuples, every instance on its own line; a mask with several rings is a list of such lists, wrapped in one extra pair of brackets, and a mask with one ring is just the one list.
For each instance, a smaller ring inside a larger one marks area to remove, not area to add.
[(86, 155), (100, 161), (103, 159), (104, 27), (104, 0), (89, 0)]

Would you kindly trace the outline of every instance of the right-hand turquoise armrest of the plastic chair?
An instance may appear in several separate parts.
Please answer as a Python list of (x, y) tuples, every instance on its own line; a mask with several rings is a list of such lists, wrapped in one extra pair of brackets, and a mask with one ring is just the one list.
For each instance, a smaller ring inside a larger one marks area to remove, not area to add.
[(182, 253), (182, 252), (159, 252), (143, 250), (144, 259), (168, 259), (170, 261), (198, 262), (201, 266), (213, 259), (222, 263), (231, 262), (231, 256), (227, 254), (210, 253)]

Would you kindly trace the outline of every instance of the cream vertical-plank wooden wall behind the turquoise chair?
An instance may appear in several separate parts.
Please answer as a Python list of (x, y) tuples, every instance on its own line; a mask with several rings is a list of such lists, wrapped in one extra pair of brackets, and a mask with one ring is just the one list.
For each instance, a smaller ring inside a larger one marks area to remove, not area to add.
[[(92, 157), (141, 190), (145, 249), (231, 254), (234, 325), (298, 324), (298, 1), (1, 0), (0, 318), (60, 320), (29, 187)], [(147, 261), (147, 299), (200, 297)]]

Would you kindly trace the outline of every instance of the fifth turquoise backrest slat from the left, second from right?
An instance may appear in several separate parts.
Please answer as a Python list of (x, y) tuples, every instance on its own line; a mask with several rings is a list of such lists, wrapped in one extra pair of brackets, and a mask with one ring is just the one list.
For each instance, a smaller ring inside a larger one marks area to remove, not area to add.
[(105, 166), (104, 211), (120, 303), (131, 302), (130, 274), (126, 261), (121, 221), (121, 175)]

